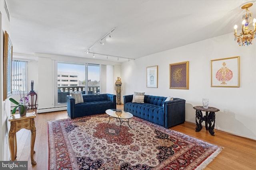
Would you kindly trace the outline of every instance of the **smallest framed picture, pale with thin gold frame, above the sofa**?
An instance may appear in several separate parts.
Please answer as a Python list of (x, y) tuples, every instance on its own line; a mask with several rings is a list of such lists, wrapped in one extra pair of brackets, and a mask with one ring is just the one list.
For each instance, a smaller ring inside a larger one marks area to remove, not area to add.
[(158, 87), (158, 66), (147, 67), (147, 87), (149, 88)]

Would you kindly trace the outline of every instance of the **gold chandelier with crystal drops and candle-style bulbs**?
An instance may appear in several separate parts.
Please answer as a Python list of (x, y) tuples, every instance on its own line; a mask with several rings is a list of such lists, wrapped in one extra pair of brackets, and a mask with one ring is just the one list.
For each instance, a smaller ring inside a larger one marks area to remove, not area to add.
[(253, 3), (245, 4), (241, 7), (241, 9), (246, 9), (242, 16), (242, 32), (240, 35), (236, 34), (237, 25), (234, 26), (235, 29), (235, 41), (238, 42), (239, 46), (245, 46), (252, 44), (252, 40), (255, 38), (256, 34), (256, 19), (253, 19), (254, 30), (249, 30), (250, 23), (252, 23), (252, 12), (248, 10), (253, 5)]

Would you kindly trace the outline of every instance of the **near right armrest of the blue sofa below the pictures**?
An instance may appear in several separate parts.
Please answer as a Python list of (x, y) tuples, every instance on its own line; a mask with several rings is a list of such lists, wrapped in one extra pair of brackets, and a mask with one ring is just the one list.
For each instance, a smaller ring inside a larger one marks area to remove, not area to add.
[(180, 98), (164, 102), (165, 127), (169, 128), (185, 122), (185, 103), (186, 100)]

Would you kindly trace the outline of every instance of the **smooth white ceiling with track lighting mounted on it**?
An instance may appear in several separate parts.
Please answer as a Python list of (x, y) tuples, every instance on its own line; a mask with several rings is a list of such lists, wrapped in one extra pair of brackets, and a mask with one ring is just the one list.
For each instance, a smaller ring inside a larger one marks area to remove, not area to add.
[[(6, 0), (14, 53), (90, 59), (92, 54), (85, 51), (113, 28), (114, 36), (91, 52), (137, 59), (232, 33), (235, 24), (240, 33), (244, 12), (240, 6), (255, 1)], [(255, 18), (256, 4), (249, 10)], [(95, 59), (106, 60), (106, 56), (95, 55)]]

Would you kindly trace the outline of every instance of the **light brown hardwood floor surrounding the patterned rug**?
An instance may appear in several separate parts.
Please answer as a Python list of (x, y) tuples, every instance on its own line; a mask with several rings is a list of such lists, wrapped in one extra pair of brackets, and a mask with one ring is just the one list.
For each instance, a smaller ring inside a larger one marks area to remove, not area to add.
[[(123, 109), (123, 105), (117, 105)], [(69, 118), (66, 111), (36, 114), (36, 141), (34, 160), (36, 165), (31, 165), (30, 160), (30, 131), (22, 129), (17, 135), (17, 159), (28, 160), (28, 170), (48, 169), (48, 121)], [(196, 125), (185, 122), (170, 129), (196, 137), (203, 141), (224, 147), (222, 152), (205, 168), (205, 170), (256, 170), (256, 141), (230, 135), (222, 131), (214, 130), (215, 136), (203, 129), (195, 131)]]

